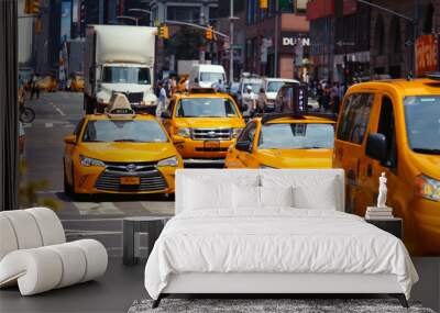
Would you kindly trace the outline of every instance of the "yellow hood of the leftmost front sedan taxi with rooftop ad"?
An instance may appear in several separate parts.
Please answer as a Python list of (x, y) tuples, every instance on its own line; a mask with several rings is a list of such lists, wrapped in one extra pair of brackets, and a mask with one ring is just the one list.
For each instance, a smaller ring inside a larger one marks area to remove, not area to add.
[(170, 143), (80, 143), (80, 155), (102, 161), (155, 161), (177, 155)]

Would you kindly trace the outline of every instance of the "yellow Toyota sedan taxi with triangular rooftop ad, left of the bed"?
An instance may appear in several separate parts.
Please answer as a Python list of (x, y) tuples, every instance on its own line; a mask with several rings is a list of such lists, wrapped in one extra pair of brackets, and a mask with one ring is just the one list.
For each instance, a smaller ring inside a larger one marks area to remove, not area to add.
[(183, 160), (165, 128), (116, 97), (109, 113), (86, 115), (65, 137), (66, 193), (173, 193)]

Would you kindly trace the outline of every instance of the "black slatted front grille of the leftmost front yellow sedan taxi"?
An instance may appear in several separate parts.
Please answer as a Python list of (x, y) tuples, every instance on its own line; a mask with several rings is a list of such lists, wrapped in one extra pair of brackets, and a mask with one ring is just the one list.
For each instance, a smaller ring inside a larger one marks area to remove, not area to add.
[[(98, 178), (95, 187), (99, 190), (135, 192), (135, 191), (160, 191), (168, 188), (161, 171), (155, 168), (156, 163), (107, 163), (106, 170)], [(128, 169), (128, 165), (134, 165)], [(139, 177), (140, 185), (121, 185), (121, 177)]]

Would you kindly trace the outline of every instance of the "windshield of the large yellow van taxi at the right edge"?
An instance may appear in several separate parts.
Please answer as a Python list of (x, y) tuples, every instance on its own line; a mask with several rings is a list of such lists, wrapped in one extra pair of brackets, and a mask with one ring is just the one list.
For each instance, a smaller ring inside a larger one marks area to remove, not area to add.
[(406, 97), (404, 108), (411, 149), (440, 154), (440, 96)]

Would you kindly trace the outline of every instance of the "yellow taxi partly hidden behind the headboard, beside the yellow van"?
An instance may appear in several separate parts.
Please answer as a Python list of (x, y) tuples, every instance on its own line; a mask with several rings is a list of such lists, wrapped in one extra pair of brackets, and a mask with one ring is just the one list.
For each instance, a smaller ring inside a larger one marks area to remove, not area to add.
[(334, 122), (274, 113), (250, 121), (228, 150), (227, 168), (331, 168)]

